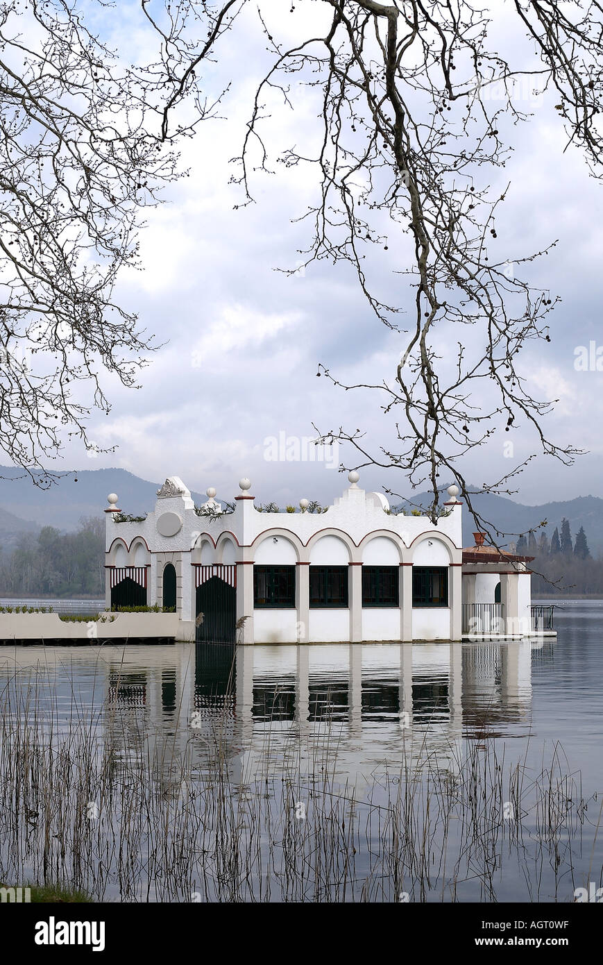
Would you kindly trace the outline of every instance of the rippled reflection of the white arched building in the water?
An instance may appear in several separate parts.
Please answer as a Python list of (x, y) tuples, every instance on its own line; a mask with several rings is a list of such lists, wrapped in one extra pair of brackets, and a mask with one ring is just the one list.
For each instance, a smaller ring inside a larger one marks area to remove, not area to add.
[(109, 663), (107, 723), (123, 751), (154, 731), (202, 769), (219, 741), (236, 784), (329, 768), (362, 786), (402, 760), (435, 754), (454, 769), (467, 740), (529, 733), (533, 649), (529, 640), (127, 648)]

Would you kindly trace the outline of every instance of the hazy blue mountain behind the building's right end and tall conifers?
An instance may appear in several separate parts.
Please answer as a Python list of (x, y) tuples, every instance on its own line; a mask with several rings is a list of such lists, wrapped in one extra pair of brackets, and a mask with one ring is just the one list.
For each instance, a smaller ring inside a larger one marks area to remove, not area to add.
[[(477, 486), (470, 485), (469, 489), (477, 489)], [(413, 504), (427, 506), (430, 502), (430, 494), (421, 493), (412, 497)], [(603, 499), (598, 496), (578, 496), (576, 499), (565, 500), (564, 502), (545, 503), (542, 506), (525, 506), (522, 503), (514, 503), (512, 499), (504, 496), (494, 496), (491, 493), (483, 493), (480, 496), (472, 496), (471, 502), (484, 519), (491, 522), (500, 533), (527, 533), (530, 529), (535, 529), (542, 520), (546, 519), (547, 525), (544, 532), (550, 539), (553, 536), (555, 527), (562, 528), (562, 518), (565, 516), (569, 520), (569, 528), (572, 538), (581, 526), (584, 526), (589, 549), (592, 554), (603, 552)], [(463, 545), (472, 546), (474, 544), (473, 533), (476, 530), (476, 523), (473, 516), (465, 510), (463, 512)], [(542, 530), (536, 531), (536, 539), (540, 537)], [(502, 544), (515, 541), (516, 537), (502, 539)]]

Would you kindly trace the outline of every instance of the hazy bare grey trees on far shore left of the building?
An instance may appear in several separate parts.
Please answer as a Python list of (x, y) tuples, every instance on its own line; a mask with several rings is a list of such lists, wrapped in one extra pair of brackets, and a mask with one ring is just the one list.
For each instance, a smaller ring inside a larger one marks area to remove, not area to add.
[(104, 520), (83, 516), (75, 533), (43, 526), (0, 554), (0, 595), (103, 596)]

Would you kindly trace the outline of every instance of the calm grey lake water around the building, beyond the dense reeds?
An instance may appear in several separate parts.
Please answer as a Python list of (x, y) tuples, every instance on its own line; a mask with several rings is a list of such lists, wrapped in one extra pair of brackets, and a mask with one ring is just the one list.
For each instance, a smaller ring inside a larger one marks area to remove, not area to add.
[[(579, 799), (587, 807), (573, 824), (557, 821), (552, 852), (535, 841), (542, 814), (534, 799), (534, 814), (528, 807), (523, 815), (521, 855), (501, 841), (485, 891), (481, 871), (465, 869), (452, 887), (444, 868), (421, 894), (415, 889), (401, 900), (571, 901), (576, 887), (602, 884), (603, 601), (556, 603), (557, 640), (507, 644), (7, 646), (0, 648), (0, 687), (11, 681), (23, 702), (35, 692), (37, 711), (17, 709), (12, 698), (5, 714), (37, 714), (40, 722), (51, 709), (53, 740), (82, 717), (94, 721), (101, 744), (111, 732), (123, 760), (150, 738), (169, 738), (171, 755), (192, 754), (202, 777), (212, 773), (209, 748), (220, 731), (233, 793), (244, 800), (263, 782), (269, 797), (274, 782), (295, 773), (303, 821), (308, 788), (325, 771), (334, 793), (353, 788), (362, 815), (369, 802), (387, 808), (400, 768), (408, 778), (425, 761), (453, 779), (464, 759), (478, 752), (485, 761), (494, 748), (504, 770), (520, 764), (528, 802), (537, 775), (553, 762), (556, 779), (567, 778), (572, 803), (563, 807), (569, 813)], [(461, 840), (458, 820), (458, 832), (447, 832), (452, 843), (455, 835)], [(367, 824), (370, 851), (382, 846), (379, 827)], [(369, 866), (358, 850), (362, 883)], [(105, 898), (165, 900), (154, 884), (132, 896), (116, 881), (109, 875)], [(187, 899), (185, 889), (179, 899)], [(399, 898), (389, 887), (371, 899)]]

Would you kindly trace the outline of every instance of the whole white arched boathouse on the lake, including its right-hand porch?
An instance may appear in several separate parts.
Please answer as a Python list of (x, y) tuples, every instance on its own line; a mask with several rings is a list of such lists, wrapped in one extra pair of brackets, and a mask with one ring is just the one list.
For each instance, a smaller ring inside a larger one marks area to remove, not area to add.
[(458, 488), (436, 522), (395, 514), (356, 472), (321, 512), (257, 510), (242, 479), (233, 511), (196, 507), (172, 476), (146, 517), (108, 497), (107, 606), (176, 609), (178, 640), (240, 644), (507, 639), (533, 626), (531, 557), (463, 549)]

